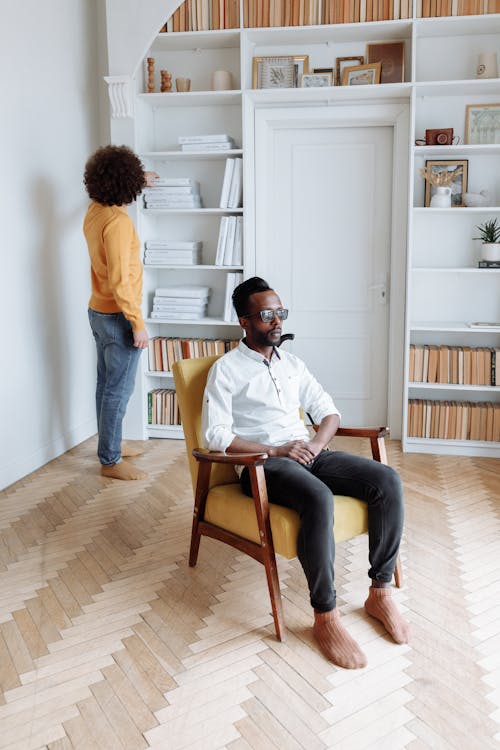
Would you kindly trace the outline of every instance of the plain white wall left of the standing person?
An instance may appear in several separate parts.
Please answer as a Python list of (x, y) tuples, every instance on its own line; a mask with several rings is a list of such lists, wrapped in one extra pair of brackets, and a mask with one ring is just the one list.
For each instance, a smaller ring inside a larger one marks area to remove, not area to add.
[(96, 431), (82, 173), (109, 140), (104, 49), (101, 0), (3, 4), (0, 487)]

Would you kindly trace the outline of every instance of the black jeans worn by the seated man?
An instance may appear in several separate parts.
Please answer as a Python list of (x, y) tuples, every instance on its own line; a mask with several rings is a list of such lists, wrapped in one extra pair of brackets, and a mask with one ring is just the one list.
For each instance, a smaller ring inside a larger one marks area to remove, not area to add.
[[(300, 516), (299, 560), (309, 585), (311, 605), (320, 612), (335, 607), (334, 495), (368, 504), (370, 578), (389, 583), (403, 532), (403, 490), (399, 474), (378, 461), (342, 451), (321, 451), (307, 466), (291, 458), (268, 458), (264, 464), (269, 500)], [(241, 486), (251, 496), (248, 469)]]

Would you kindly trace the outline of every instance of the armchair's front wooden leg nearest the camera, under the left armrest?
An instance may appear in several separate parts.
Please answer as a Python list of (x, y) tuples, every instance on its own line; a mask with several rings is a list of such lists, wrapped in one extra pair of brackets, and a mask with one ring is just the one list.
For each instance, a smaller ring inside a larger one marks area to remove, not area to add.
[(261, 538), (262, 558), (266, 570), (267, 587), (271, 608), (273, 612), (274, 628), (279, 641), (285, 639), (285, 617), (283, 614), (283, 601), (281, 599), (280, 583), (278, 578), (278, 567), (274, 553), (273, 536), (271, 533), (271, 522), (269, 520), (269, 501), (267, 499), (266, 479), (262, 466), (252, 466), (249, 469), (252, 495), (259, 524)]

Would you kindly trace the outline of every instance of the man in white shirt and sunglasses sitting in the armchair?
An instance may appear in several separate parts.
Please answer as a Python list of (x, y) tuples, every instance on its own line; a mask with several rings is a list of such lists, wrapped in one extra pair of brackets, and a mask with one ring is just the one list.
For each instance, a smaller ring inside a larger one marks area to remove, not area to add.
[[(334, 495), (368, 504), (371, 586), (365, 609), (396, 643), (406, 643), (409, 624), (390, 589), (403, 529), (401, 480), (378, 461), (325, 450), (339, 427), (340, 413), (304, 363), (276, 348), (288, 310), (267, 282), (247, 279), (234, 290), (233, 304), (245, 338), (210, 370), (202, 417), (206, 447), (268, 454), (264, 472), (269, 501), (300, 516), (297, 548), (314, 608), (314, 637), (334, 664), (364, 667), (366, 656), (336, 609)], [(312, 438), (300, 407), (319, 425)], [(248, 469), (239, 468), (242, 489), (251, 496)]]

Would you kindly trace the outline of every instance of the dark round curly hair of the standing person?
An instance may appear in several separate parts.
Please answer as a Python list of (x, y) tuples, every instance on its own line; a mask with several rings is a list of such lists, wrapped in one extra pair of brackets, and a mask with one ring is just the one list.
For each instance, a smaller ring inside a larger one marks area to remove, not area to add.
[(127, 205), (146, 185), (144, 166), (128, 146), (102, 146), (89, 157), (83, 184), (97, 203)]

